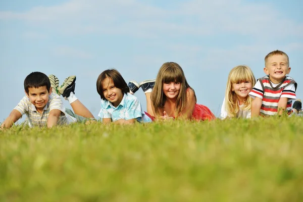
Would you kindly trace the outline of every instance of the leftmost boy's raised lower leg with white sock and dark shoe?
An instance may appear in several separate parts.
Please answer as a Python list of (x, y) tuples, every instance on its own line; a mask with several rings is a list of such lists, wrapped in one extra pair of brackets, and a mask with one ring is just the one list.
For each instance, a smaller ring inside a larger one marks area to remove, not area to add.
[(85, 118), (94, 118), (91, 112), (80, 102), (80, 100), (75, 95), (75, 86), (76, 86), (76, 76), (67, 77), (61, 87), (59, 92), (62, 96), (68, 100), (71, 107), (73, 108), (76, 115), (85, 117)]

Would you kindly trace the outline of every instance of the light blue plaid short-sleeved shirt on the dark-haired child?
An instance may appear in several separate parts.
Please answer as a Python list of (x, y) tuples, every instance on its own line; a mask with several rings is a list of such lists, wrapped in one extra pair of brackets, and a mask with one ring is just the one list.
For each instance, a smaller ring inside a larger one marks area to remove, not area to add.
[(101, 121), (103, 118), (111, 118), (112, 121), (136, 119), (138, 122), (151, 122), (151, 119), (142, 111), (138, 98), (130, 93), (124, 94), (118, 107), (114, 107), (107, 99), (101, 99), (98, 117)]

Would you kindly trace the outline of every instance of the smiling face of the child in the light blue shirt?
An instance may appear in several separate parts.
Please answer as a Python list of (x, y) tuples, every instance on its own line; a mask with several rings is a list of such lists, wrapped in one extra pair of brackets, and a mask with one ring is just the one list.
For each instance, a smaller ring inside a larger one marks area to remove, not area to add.
[(123, 92), (117, 88), (112, 78), (107, 77), (102, 82), (102, 89), (104, 97), (109, 100), (114, 107), (118, 107), (123, 98)]

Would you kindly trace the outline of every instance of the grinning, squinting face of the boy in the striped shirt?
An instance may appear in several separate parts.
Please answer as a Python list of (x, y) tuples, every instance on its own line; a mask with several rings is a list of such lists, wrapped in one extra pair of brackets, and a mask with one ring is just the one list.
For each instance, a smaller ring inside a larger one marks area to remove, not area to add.
[(269, 75), (271, 82), (280, 83), (289, 74), (290, 67), (288, 67), (287, 57), (284, 55), (274, 55), (267, 59), (265, 74)]

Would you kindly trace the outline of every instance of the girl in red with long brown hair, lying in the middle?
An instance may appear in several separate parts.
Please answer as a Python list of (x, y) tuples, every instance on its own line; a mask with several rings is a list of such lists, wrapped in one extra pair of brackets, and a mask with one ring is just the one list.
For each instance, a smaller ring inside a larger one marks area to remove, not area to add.
[(206, 106), (196, 104), (194, 90), (187, 83), (182, 68), (174, 62), (161, 66), (150, 98), (156, 119), (216, 119)]

